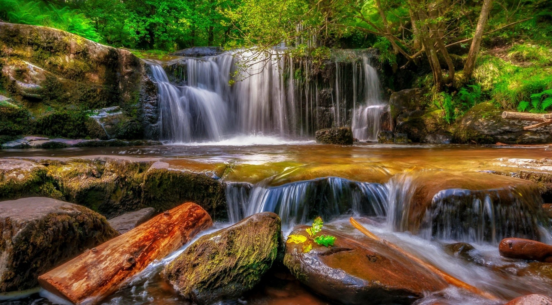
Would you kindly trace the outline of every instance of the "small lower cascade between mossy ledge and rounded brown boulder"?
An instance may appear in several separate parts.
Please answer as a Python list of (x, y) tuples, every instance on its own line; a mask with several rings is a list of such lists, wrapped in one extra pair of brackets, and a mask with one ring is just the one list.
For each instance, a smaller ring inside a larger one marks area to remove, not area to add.
[[(326, 220), (343, 213), (384, 217), (386, 188), (379, 183), (364, 183), (337, 177), (298, 181), (269, 186), (268, 181), (256, 185), (226, 184), (229, 220), (259, 212), (275, 212), (285, 224), (306, 223), (322, 216)], [(315, 215), (316, 214), (316, 215)]]

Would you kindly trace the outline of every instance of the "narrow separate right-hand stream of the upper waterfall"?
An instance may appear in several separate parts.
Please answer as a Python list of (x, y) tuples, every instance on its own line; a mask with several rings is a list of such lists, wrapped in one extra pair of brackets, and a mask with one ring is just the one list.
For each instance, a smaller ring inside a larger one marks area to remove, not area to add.
[[(353, 73), (355, 75), (355, 73)], [(360, 141), (378, 141), (381, 129), (381, 115), (389, 111), (389, 105), (381, 100), (381, 90), (378, 72), (370, 65), (370, 58), (362, 56), (362, 72), (358, 76), (364, 78), (363, 100), (353, 108), (353, 137)], [(353, 81), (353, 84), (355, 82)], [(354, 88), (356, 90), (356, 87)]]

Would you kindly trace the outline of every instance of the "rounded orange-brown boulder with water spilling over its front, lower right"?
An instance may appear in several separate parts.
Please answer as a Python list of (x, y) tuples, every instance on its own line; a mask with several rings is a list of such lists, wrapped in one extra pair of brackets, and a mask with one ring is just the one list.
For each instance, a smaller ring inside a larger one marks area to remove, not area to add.
[(539, 239), (544, 219), (538, 186), (481, 172), (421, 170), (392, 178), (390, 219), (397, 231), (469, 242)]

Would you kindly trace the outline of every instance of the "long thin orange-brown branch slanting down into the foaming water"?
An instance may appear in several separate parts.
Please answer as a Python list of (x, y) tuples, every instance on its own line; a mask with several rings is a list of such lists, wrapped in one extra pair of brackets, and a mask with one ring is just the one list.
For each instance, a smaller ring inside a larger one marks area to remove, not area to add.
[(433, 272), (434, 274), (437, 274), (438, 276), (442, 277), (443, 280), (447, 281), (450, 285), (454, 285), (454, 286), (457, 286), (457, 287), (460, 287), (460, 288), (464, 288), (465, 290), (468, 290), (470, 292), (473, 292), (473, 293), (476, 293), (477, 295), (480, 295), (482, 297), (485, 297), (485, 298), (488, 298), (488, 299), (491, 299), (493, 301), (498, 301), (499, 298), (497, 298), (496, 296), (493, 296), (491, 295), (491, 293), (489, 292), (486, 292), (486, 291), (482, 291), (480, 290), (479, 288), (477, 287), (474, 287), (474, 286), (471, 286), (470, 284), (466, 283), (466, 282), (463, 282), (459, 279), (457, 279), (456, 277), (452, 276), (452, 275), (449, 275), (448, 273), (438, 269), (436, 266), (433, 266), (429, 263), (427, 263), (426, 261), (423, 261), (419, 258), (417, 258), (416, 256), (406, 252), (405, 250), (403, 250), (402, 248), (386, 241), (386, 240), (383, 240), (383, 239), (380, 239), (379, 237), (375, 236), (374, 233), (368, 231), (367, 228), (365, 228), (362, 224), (358, 223), (357, 221), (355, 221), (353, 219), (353, 217), (351, 217), (349, 219), (349, 221), (351, 222), (351, 224), (353, 225), (353, 227), (357, 228), (358, 231), (362, 232), (365, 236), (368, 236), (369, 238), (371, 239), (374, 239), (376, 240), (377, 242), (380, 242), (380, 243), (385, 243), (386, 245), (388, 245), (389, 247), (391, 247), (392, 249), (395, 249), (397, 250), (398, 252), (402, 253), (403, 255), (405, 255), (407, 258), (415, 261), (416, 263), (426, 267), (429, 271)]

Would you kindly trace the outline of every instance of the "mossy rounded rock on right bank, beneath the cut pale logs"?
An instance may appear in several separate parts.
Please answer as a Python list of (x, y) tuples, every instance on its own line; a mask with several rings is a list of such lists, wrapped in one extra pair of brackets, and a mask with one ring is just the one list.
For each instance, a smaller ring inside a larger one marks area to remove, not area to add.
[(458, 143), (494, 144), (543, 144), (552, 142), (552, 125), (533, 130), (523, 127), (534, 124), (531, 121), (502, 119), (502, 110), (491, 102), (471, 108), (460, 120), (454, 132)]

